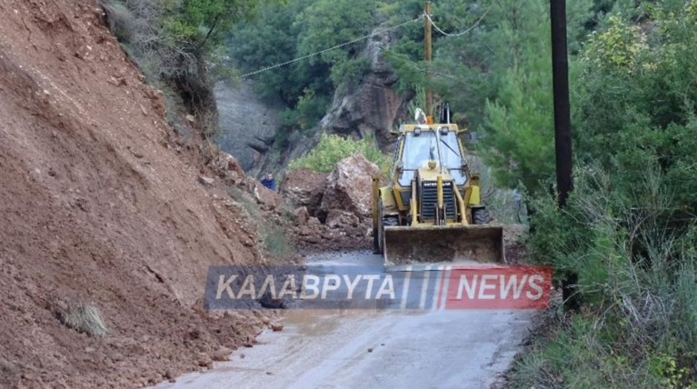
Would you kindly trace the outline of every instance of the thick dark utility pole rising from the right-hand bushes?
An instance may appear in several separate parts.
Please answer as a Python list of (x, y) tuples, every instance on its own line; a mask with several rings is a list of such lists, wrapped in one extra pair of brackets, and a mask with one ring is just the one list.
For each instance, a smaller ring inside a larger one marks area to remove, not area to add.
[(566, 0), (550, 0), (552, 19), (552, 78), (554, 90), (554, 149), (556, 152), (557, 201), (566, 204), (573, 190), (569, 60), (566, 48)]

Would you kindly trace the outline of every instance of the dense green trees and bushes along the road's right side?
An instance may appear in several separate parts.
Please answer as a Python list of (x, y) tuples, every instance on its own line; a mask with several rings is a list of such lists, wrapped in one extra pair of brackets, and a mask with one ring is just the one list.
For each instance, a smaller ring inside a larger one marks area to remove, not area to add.
[[(491, 9), (467, 35), (434, 35), (430, 78), (420, 26), (388, 53), (401, 90), (431, 85), (479, 132), (498, 185), (538, 199), (532, 260), (578, 275), (580, 313), (563, 314), (519, 360), (515, 387), (697, 386), (697, 2), (638, 3), (567, 2), (579, 167), (563, 212), (549, 195), (548, 1), (434, 3), (434, 21), (453, 32)], [(491, 192), (494, 208), (510, 205)]]

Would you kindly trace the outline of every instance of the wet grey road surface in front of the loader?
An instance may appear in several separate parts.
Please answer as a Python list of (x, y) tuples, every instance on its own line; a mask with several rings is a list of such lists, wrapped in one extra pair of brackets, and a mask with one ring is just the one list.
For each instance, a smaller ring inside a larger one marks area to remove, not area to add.
[[(374, 264), (372, 254), (324, 258)], [(529, 311), (289, 310), (283, 332), (158, 388), (485, 388), (513, 359)]]

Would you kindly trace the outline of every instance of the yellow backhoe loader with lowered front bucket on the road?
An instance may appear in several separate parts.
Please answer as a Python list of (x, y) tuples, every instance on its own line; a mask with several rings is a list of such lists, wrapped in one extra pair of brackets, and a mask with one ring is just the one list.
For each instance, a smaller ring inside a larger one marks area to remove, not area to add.
[(503, 227), (491, 223), (461, 130), (417, 115), (402, 125), (390, 185), (373, 177), (373, 244), (386, 265), (503, 263)]

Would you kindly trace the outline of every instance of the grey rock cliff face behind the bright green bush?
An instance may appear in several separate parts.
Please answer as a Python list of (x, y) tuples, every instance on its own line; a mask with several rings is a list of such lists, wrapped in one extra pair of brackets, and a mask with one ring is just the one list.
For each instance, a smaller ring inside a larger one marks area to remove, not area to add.
[(349, 91), (336, 92), (327, 114), (311, 135), (291, 134), (287, 145), (274, 145), (281, 108), (262, 102), (254, 93), (253, 81), (215, 87), (221, 140), (226, 152), (234, 155), (249, 175), (277, 172), (294, 158), (307, 153), (323, 132), (361, 139), (375, 135), (384, 151), (393, 146), (390, 130), (395, 118), (405, 110), (405, 102), (392, 86), (397, 81), (383, 61), (383, 50), (393, 42), (392, 35), (375, 35), (363, 50), (371, 60), (371, 71), (363, 83)]

